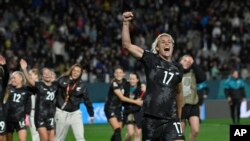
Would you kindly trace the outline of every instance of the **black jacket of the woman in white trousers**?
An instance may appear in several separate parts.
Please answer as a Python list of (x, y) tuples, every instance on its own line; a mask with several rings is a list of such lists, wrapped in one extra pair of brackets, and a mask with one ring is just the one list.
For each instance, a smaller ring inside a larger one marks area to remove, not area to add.
[[(89, 99), (88, 91), (85, 83), (79, 79), (72, 81), (69, 76), (63, 76), (58, 79), (58, 91), (56, 106), (62, 109), (63, 105), (65, 107), (63, 110), (68, 112), (76, 111), (80, 108), (80, 103), (84, 103), (89, 115), (94, 116), (94, 108), (92, 102)], [(66, 97), (69, 96), (66, 102)], [(66, 103), (65, 103), (66, 102)]]

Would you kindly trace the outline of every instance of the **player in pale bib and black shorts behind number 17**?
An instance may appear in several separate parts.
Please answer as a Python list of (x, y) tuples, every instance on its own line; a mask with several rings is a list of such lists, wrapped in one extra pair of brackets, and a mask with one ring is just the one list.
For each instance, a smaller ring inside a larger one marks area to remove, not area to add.
[(198, 104), (197, 84), (206, 80), (205, 73), (194, 63), (193, 57), (184, 55), (180, 59), (183, 67), (183, 108), (182, 108), (182, 126), (183, 131), (188, 121), (191, 132), (189, 141), (195, 141), (200, 128), (200, 109)]

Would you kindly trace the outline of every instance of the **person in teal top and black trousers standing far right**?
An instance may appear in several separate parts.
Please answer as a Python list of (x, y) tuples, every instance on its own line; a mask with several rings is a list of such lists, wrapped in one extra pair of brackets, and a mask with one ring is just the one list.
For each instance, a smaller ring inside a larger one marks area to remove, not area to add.
[(224, 92), (230, 106), (232, 122), (233, 124), (239, 124), (241, 102), (246, 98), (244, 81), (239, 78), (239, 72), (233, 70), (224, 85)]

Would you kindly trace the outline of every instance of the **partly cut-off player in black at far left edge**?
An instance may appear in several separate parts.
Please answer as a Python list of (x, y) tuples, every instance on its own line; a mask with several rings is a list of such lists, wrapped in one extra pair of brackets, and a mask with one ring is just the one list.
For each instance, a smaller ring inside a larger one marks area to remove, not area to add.
[(9, 71), (5, 58), (0, 55), (0, 141), (4, 140), (6, 131), (6, 111), (4, 105), (5, 90), (9, 80)]

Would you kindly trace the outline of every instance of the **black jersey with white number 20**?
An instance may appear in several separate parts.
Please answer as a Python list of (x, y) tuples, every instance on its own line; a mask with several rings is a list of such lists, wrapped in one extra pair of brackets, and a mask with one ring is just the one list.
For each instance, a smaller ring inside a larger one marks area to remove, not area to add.
[(51, 86), (45, 85), (39, 81), (35, 83), (36, 88), (36, 106), (35, 117), (49, 118), (54, 117), (56, 111), (55, 95), (58, 88), (56, 82), (52, 82)]

